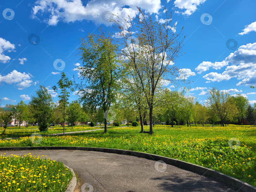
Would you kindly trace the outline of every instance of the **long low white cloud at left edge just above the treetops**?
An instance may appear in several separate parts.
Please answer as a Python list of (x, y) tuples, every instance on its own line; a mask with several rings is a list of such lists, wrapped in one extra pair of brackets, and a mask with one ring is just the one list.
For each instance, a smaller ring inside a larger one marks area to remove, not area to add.
[(18, 89), (22, 90), (26, 87), (30, 87), (31, 85), (35, 85), (37, 82), (31, 80), (33, 76), (30, 73), (21, 73), (16, 70), (8, 73), (7, 75), (0, 75), (0, 82), (5, 82), (7, 84), (15, 84)]

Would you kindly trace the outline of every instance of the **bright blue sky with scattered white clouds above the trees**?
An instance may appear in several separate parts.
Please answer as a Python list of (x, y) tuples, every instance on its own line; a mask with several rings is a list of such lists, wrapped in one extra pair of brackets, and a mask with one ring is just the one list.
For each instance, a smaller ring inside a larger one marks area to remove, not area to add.
[[(185, 54), (175, 64), (188, 74), (184, 78), (193, 81), (190, 94), (198, 102), (204, 103), (211, 87), (256, 102), (256, 90), (250, 88), (256, 85), (254, 0), (12, 0), (0, 2), (2, 105), (21, 99), (28, 103), (40, 84), (49, 88), (56, 101), (51, 87), (60, 73), (77, 78), (73, 69), (81, 64), (76, 50), (79, 38), (97, 33), (100, 26), (113, 31), (109, 15), (124, 13), (134, 18), (136, 6), (159, 22), (166, 7), (173, 12), (176, 31), (184, 26)], [(70, 94), (70, 99), (76, 98)]]

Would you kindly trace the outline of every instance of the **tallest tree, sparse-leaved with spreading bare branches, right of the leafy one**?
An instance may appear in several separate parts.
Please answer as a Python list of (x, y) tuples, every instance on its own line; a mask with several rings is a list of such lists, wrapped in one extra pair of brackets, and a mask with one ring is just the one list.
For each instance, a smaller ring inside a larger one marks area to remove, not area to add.
[(150, 134), (153, 134), (155, 91), (163, 79), (174, 81), (177, 78), (178, 68), (174, 66), (174, 61), (179, 57), (183, 44), (183, 40), (179, 41), (180, 33), (174, 32), (171, 15), (165, 11), (165, 23), (153, 21), (151, 15), (144, 15), (141, 9), (137, 19), (117, 16), (115, 21), (119, 27), (119, 39), (123, 39), (119, 40), (123, 60), (137, 74), (140, 81), (137, 89), (145, 94)]

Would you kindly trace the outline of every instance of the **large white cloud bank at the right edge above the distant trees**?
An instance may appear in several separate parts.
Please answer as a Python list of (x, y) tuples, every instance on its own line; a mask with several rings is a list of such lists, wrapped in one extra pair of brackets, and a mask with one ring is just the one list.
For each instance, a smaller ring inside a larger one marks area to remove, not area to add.
[[(210, 72), (204, 75), (203, 78), (208, 80), (206, 81), (207, 83), (215, 81), (227, 81), (234, 77), (237, 80), (240, 80), (236, 84), (237, 86), (252, 86), (256, 84), (256, 43), (249, 43), (247, 45), (240, 46), (237, 51), (230, 53), (230, 55), (226, 57), (225, 60), (218, 63), (230, 63), (231, 65), (227, 66), (225, 71), (221, 74)], [(198, 65), (198, 67), (199, 66), (200, 65)], [(215, 67), (218, 68), (219, 66), (216, 65)], [(208, 69), (206, 64), (204, 65), (204, 69), (201, 66), (201, 71)]]

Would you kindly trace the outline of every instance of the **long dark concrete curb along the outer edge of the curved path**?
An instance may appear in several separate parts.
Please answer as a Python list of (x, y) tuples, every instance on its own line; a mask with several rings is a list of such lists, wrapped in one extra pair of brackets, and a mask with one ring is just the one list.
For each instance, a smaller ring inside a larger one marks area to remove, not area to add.
[(136, 151), (128, 151), (122, 149), (110, 149), (110, 148), (97, 148), (97, 147), (0, 147), (1, 151), (4, 150), (34, 150), (34, 149), (48, 149), (48, 150), (83, 150), (83, 151), (97, 151), (97, 152), (105, 152), (105, 153), (116, 153), (121, 155), (132, 155), (136, 157), (152, 159), (155, 161), (162, 160), (169, 165), (174, 165), (179, 168), (183, 168), (192, 172), (197, 172), (202, 174), (203, 176), (213, 177), (216, 180), (219, 180), (223, 183), (227, 183), (230, 186), (236, 187), (238, 191), (241, 192), (256, 192), (256, 187), (249, 185), (239, 179), (234, 177), (230, 177), (221, 172), (214, 171), (212, 169), (208, 169), (199, 165), (194, 165), (192, 163), (188, 163), (185, 161), (181, 161), (178, 159), (172, 159), (168, 157), (163, 157), (160, 155), (153, 155), (149, 153), (136, 152)]

